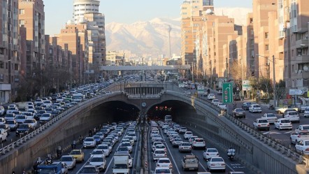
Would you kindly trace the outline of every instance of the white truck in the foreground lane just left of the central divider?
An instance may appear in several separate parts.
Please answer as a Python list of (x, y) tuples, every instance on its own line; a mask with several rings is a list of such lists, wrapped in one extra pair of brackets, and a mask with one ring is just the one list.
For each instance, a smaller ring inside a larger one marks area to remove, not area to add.
[(129, 155), (126, 152), (115, 152), (113, 174), (130, 173)]

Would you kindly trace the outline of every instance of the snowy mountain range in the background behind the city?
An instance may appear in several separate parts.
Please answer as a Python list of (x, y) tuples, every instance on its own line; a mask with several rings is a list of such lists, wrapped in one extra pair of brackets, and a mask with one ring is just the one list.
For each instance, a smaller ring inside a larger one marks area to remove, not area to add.
[[(248, 8), (216, 8), (216, 15), (235, 18), (236, 24), (245, 24)], [(147, 22), (106, 24), (107, 50), (130, 51), (138, 56), (168, 55), (168, 29), (171, 27), (171, 53), (180, 55), (180, 18), (155, 18)]]

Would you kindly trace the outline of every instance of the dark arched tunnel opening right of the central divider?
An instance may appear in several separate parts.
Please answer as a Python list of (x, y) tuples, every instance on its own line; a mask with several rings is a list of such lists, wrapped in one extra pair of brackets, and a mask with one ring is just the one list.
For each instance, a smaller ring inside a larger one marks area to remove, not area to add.
[(177, 120), (180, 117), (189, 117), (192, 113), (196, 113), (193, 106), (182, 101), (164, 101), (152, 106), (147, 113), (148, 121), (152, 120), (164, 120), (165, 115), (172, 115), (173, 120)]

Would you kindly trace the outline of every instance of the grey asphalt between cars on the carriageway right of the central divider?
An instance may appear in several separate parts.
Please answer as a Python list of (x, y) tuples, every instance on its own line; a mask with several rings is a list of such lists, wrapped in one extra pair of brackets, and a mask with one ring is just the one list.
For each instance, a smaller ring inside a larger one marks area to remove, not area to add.
[[(181, 164), (181, 159), (183, 158), (183, 156), (185, 156), (186, 154), (194, 154), (196, 155), (198, 158), (199, 158), (199, 172), (205, 172), (207, 171), (207, 165), (206, 165), (206, 161), (203, 159), (203, 151), (204, 150), (192, 150), (192, 153), (185, 153), (185, 152), (178, 152), (178, 147), (173, 147), (168, 139), (168, 137), (166, 136), (165, 133), (163, 133), (161, 131), (161, 129), (159, 129), (160, 131), (160, 134), (161, 134), (161, 137), (164, 138), (164, 144), (166, 145), (166, 149), (167, 149), (167, 152), (168, 152), (168, 155), (167, 157), (172, 161), (172, 164), (173, 164), (173, 173), (178, 173), (178, 174), (182, 174), (182, 173), (196, 173), (196, 171), (183, 171), (182, 170), (182, 164)], [(150, 132), (149, 132), (150, 134)], [(194, 133), (193, 131), (193, 135), (194, 136), (198, 136), (196, 133)], [(180, 134), (182, 140), (184, 141), (188, 141), (188, 140), (185, 140), (185, 138), (183, 137), (182, 134)], [(152, 171), (155, 171), (155, 167), (156, 167), (156, 164), (155, 162), (153, 161), (152, 159), (152, 150), (151, 150), (151, 138), (150, 136), (148, 136), (148, 164), (149, 164), (149, 167), (148, 167), (148, 170), (149, 170), (149, 173), (152, 173)], [(201, 137), (201, 136), (199, 136)], [(206, 141), (206, 147), (215, 147), (212, 143), (211, 143), (211, 140), (207, 140), (207, 139), (204, 139)], [(220, 150), (220, 148), (217, 147), (217, 150), (220, 152), (220, 157), (222, 157), (227, 165), (227, 168), (226, 168), (226, 172), (225, 173), (228, 173), (229, 171), (243, 171), (245, 172), (246, 174), (251, 174), (252, 172), (250, 171), (249, 168), (246, 168), (245, 166), (243, 166), (242, 164), (240, 164), (238, 161), (236, 160), (233, 160), (233, 161), (230, 161), (228, 158), (227, 158), (227, 152), (223, 152), (222, 150)], [(218, 171), (216, 173), (224, 173), (222, 171)], [(253, 174), (253, 173), (252, 173)]]

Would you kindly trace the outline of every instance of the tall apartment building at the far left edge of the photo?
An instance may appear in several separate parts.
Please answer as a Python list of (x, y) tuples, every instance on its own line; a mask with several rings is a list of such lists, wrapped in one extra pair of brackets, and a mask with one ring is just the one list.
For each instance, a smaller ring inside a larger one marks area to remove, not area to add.
[(13, 101), (20, 81), (18, 0), (0, 1), (0, 103)]

